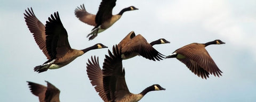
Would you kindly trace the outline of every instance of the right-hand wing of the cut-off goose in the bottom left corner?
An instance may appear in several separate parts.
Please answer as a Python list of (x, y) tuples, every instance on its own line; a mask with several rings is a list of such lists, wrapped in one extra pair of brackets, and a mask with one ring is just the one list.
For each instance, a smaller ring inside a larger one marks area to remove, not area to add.
[(47, 90), (45, 92), (45, 101), (55, 101), (58, 102), (60, 101), (59, 97), (60, 97), (60, 90), (58, 88), (56, 88), (55, 86), (53, 86), (53, 84), (51, 84), (48, 81), (47, 82)]

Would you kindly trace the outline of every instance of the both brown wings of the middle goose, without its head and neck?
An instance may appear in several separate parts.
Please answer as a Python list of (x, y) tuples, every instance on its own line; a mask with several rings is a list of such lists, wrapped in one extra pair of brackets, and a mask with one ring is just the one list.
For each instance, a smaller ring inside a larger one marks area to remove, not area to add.
[[(156, 44), (156, 43), (153, 43)], [(147, 40), (141, 36), (135, 36), (134, 31), (131, 31), (119, 44), (118, 48), (122, 47), (123, 60), (141, 55), (149, 60), (157, 61), (164, 58), (155, 48), (153, 48)]]

